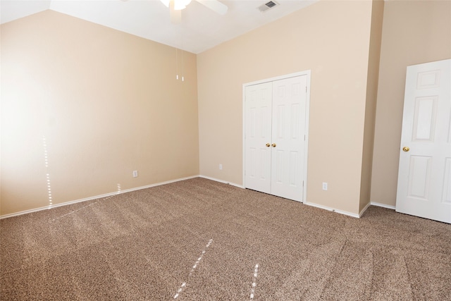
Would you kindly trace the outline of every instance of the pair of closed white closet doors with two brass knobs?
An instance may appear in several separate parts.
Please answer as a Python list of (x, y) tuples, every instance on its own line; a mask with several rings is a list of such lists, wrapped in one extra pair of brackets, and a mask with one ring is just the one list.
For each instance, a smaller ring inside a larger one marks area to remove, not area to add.
[(245, 187), (303, 201), (307, 75), (245, 87)]

